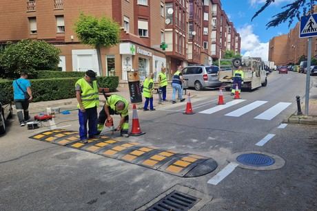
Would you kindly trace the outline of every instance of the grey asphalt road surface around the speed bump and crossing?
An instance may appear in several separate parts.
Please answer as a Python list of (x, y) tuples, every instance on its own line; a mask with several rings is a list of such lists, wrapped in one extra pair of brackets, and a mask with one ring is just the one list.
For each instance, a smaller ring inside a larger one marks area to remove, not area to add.
[[(12, 120), (8, 134), (0, 137), (0, 210), (135, 210), (176, 184), (209, 198), (201, 210), (316, 210), (317, 127), (287, 125), (278, 129), (283, 119), (296, 111), (295, 96), (304, 94), (305, 75), (274, 72), (268, 81), (267, 87), (241, 93), (244, 101), (214, 113), (208, 109), (216, 107), (216, 98), (206, 96), (206, 91), (203, 97), (192, 99), (194, 115), (183, 115), (185, 103), (168, 103), (154, 112), (139, 111), (146, 134), (128, 140), (212, 157), (218, 168), (201, 177), (177, 177), (30, 140), (30, 135), (45, 128), (27, 131)], [(228, 92), (225, 102), (232, 102)], [(254, 103), (261, 105), (255, 107)], [(278, 112), (279, 107), (274, 106), (280, 103), (289, 105)], [(228, 116), (232, 111), (240, 116)], [(256, 119), (265, 112), (264, 118), (276, 115), (272, 120)], [(58, 115), (56, 122), (77, 130), (78, 123), (72, 120), (76, 120), (76, 112)], [(256, 146), (268, 134), (275, 136)], [(228, 166), (229, 157), (245, 151), (278, 155), (285, 166), (277, 170), (237, 166), (218, 184), (207, 183)]]

